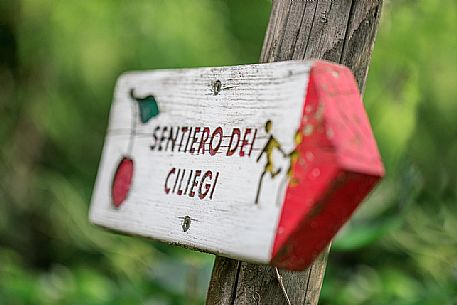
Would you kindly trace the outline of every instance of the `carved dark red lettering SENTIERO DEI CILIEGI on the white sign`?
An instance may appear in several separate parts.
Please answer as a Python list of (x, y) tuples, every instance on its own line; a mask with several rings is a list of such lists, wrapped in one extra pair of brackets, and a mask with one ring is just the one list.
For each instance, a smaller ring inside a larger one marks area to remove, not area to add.
[[(220, 126), (155, 126), (149, 148), (152, 152), (250, 158), (257, 138), (257, 128), (234, 127), (224, 131)], [(165, 194), (212, 200), (219, 176), (220, 172), (211, 169), (171, 167), (163, 190)]]

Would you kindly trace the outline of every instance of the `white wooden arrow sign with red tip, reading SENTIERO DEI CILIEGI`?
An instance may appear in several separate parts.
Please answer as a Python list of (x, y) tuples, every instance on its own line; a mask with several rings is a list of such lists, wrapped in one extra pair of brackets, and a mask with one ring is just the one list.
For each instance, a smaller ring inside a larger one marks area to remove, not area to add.
[(343, 66), (126, 73), (116, 85), (90, 219), (301, 270), (383, 173)]

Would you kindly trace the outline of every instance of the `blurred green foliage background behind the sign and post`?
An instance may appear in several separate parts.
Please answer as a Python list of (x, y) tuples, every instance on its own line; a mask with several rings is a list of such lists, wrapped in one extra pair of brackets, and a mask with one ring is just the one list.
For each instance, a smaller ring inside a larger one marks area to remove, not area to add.
[[(116, 77), (256, 62), (267, 0), (0, 2), (0, 304), (202, 304), (212, 256), (87, 221)], [(387, 177), (321, 304), (457, 304), (457, 3), (386, 1), (365, 102)]]

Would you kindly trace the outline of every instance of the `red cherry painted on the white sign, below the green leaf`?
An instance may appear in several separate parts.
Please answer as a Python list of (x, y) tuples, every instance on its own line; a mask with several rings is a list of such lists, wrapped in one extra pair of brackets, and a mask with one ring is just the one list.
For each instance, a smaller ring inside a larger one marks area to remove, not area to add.
[(117, 166), (111, 186), (111, 199), (113, 205), (118, 208), (124, 203), (132, 186), (133, 160), (124, 157)]

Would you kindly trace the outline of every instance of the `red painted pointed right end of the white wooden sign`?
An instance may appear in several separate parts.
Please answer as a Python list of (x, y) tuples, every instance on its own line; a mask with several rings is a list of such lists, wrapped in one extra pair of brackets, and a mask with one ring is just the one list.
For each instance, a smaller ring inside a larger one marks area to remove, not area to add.
[(352, 72), (316, 61), (293, 166), (273, 244), (272, 262), (303, 270), (384, 175)]

